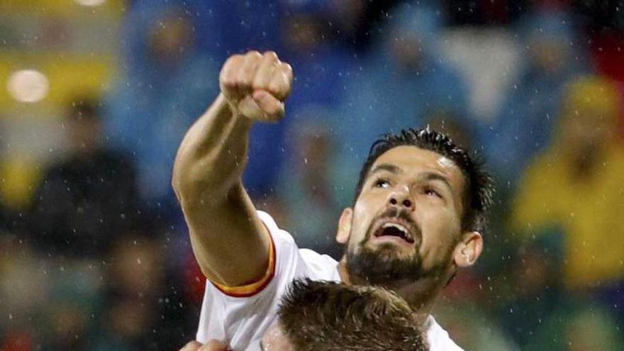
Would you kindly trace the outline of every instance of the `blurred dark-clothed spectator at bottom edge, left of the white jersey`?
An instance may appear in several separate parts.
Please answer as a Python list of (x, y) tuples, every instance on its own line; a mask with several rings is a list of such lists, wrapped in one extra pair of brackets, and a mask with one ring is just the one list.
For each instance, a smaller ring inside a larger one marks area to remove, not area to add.
[(113, 245), (92, 350), (174, 350), (189, 330), (178, 280), (168, 277), (160, 240), (128, 231)]

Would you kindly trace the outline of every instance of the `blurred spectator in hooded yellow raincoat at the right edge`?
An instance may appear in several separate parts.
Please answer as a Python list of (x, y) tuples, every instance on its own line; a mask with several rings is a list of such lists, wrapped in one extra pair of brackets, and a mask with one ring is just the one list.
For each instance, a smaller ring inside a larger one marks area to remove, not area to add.
[(512, 228), (530, 238), (559, 225), (567, 288), (617, 290), (624, 279), (624, 150), (614, 142), (620, 99), (611, 82), (591, 76), (574, 80), (563, 99), (552, 145), (518, 188)]

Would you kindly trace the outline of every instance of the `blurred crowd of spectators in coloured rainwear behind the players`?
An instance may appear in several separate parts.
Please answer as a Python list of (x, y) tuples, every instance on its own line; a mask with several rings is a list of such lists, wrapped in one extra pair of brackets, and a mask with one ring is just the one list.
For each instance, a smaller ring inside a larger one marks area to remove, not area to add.
[(371, 143), (430, 126), (478, 152), (498, 188), (477, 269), (433, 313), (452, 338), (624, 350), (617, 2), (126, 2), (113, 85), (67, 101), (67, 152), (34, 168), (28, 201), (0, 197), (0, 350), (194, 339), (204, 277), (172, 163), (225, 58), (249, 49), (294, 68), (284, 121), (252, 128), (244, 182), (299, 247), (340, 257), (338, 216)]

